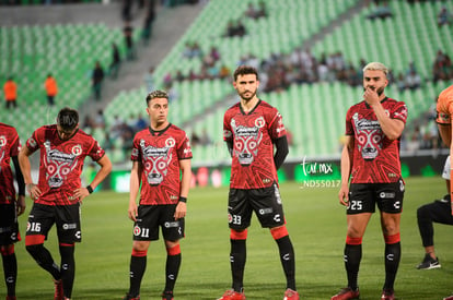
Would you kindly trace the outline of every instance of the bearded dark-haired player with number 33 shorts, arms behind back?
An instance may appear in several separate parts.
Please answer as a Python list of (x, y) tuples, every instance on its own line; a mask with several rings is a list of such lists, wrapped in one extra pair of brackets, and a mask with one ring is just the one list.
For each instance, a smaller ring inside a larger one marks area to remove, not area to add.
[(253, 212), (262, 226), (270, 229), (278, 244), (287, 277), (284, 299), (299, 299), (294, 250), (286, 227), (277, 178), (277, 170), (288, 155), (281, 115), (257, 97), (259, 80), (255, 68), (239, 67), (233, 86), (241, 100), (229, 108), (223, 118), (223, 139), (233, 158), (228, 204), (233, 284), (220, 299), (245, 299), (245, 241)]

